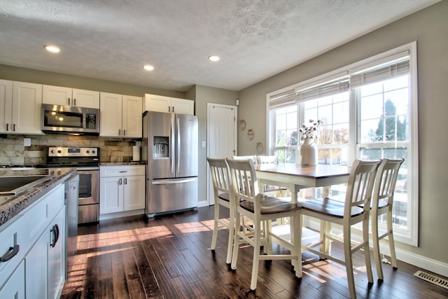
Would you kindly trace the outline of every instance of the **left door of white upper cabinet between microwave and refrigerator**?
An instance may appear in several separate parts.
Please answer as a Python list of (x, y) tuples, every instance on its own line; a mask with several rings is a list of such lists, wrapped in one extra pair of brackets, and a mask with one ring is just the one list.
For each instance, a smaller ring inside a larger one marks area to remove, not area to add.
[(99, 136), (122, 137), (123, 96), (102, 92), (99, 102)]

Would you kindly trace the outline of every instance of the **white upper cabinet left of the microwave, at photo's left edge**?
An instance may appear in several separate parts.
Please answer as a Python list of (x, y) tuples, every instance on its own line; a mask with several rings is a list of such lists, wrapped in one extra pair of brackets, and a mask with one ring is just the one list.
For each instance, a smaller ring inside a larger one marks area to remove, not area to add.
[(42, 85), (0, 80), (0, 133), (42, 134)]

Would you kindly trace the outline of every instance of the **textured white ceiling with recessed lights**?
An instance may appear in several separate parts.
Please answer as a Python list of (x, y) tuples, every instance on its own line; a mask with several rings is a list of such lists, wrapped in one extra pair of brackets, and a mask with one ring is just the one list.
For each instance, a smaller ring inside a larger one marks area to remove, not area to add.
[[(0, 0), (0, 64), (167, 90), (241, 90), (436, 2)], [(46, 53), (48, 44), (61, 53)]]

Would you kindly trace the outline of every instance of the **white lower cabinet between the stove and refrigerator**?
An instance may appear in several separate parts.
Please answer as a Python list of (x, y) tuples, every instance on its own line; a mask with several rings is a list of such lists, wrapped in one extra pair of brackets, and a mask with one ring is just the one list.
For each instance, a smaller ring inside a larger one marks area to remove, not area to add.
[(145, 208), (145, 166), (99, 167), (99, 214)]

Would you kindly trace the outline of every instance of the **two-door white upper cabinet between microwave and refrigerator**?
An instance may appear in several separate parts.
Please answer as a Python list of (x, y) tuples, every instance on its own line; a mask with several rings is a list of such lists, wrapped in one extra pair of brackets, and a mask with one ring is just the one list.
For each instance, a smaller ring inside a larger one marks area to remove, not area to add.
[(101, 92), (99, 136), (141, 138), (141, 97)]

